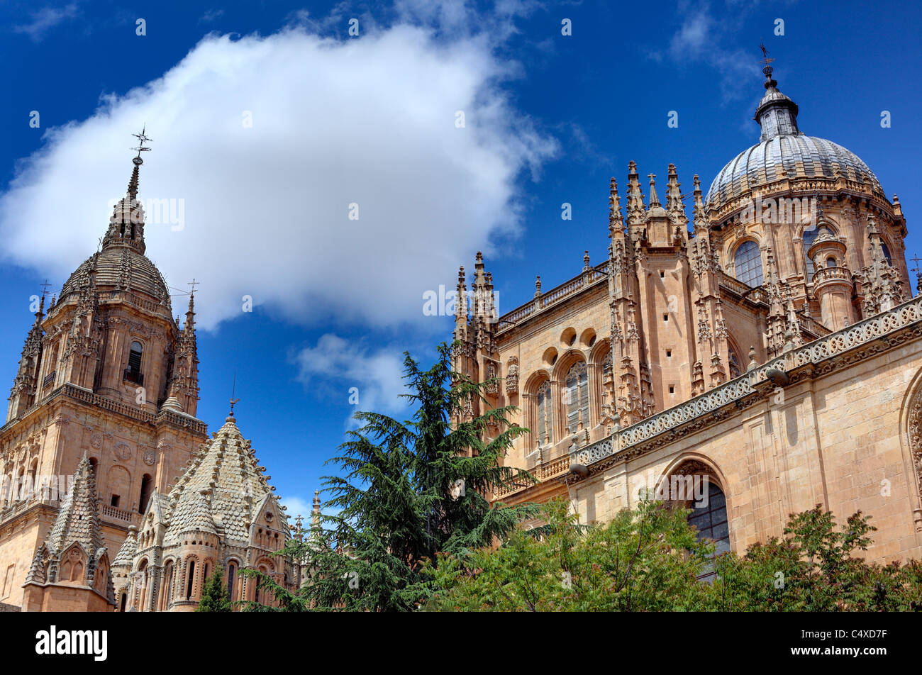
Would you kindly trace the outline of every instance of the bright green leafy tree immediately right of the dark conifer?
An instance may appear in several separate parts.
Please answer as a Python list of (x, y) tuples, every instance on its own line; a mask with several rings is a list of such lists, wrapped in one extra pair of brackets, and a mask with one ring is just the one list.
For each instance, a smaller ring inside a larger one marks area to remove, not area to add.
[(445, 554), (429, 573), (429, 610), (695, 610), (713, 544), (699, 541), (687, 510), (641, 502), (609, 524), (579, 526), (565, 500), (541, 508), (539, 538), (516, 532), (495, 550)]

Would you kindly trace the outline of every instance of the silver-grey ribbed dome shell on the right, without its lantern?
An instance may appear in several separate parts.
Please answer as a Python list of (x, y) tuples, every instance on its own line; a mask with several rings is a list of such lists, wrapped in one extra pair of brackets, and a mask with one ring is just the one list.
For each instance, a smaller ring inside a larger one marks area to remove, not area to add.
[[(779, 171), (779, 165), (786, 175)], [(755, 185), (782, 178), (834, 178), (836, 170), (848, 180), (868, 182), (872, 190), (883, 192), (877, 176), (851, 150), (825, 138), (782, 134), (763, 140), (728, 161), (707, 191), (705, 203), (709, 208), (721, 207)], [(747, 179), (745, 190), (743, 178)]]

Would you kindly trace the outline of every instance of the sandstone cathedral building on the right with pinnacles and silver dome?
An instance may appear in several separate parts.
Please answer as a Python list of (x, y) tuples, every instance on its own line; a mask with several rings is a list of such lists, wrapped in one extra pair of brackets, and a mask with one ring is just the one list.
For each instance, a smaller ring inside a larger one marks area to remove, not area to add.
[(718, 550), (822, 504), (873, 516), (871, 558), (919, 558), (922, 298), (902, 208), (854, 153), (800, 131), (763, 72), (759, 142), (706, 195), (694, 176), (691, 220), (676, 167), (644, 195), (631, 162), (610, 184), (608, 260), (551, 290), (538, 278), (502, 316), (481, 256), (470, 290), (461, 268), (455, 367), (502, 378), (487, 405), (529, 430), (506, 462), (538, 479), (493, 496), (562, 496), (605, 521), (699, 478), (710, 498), (690, 517)]

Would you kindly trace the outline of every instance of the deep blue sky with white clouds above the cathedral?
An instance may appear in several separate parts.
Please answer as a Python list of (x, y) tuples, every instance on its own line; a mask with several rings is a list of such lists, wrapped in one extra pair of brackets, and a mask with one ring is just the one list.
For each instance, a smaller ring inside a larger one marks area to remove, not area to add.
[(148, 227), (148, 255), (176, 314), (202, 282), (198, 416), (219, 426), (236, 373), (242, 431), (301, 510), (355, 410), (349, 387), (360, 409), (407, 414), (401, 352), (429, 360), (452, 327), (423, 315), (423, 292), (453, 288), (482, 249), (507, 312), (535, 275), (547, 290), (586, 249), (603, 260), (609, 176), (624, 184), (629, 160), (659, 180), (675, 163), (691, 192), (692, 174), (706, 189), (757, 141), (761, 41), (800, 129), (865, 160), (922, 251), (920, 17), (859, 3), (7, 2), (0, 384), (30, 295), (95, 249), (147, 124), (141, 197), (186, 205), (181, 231)]

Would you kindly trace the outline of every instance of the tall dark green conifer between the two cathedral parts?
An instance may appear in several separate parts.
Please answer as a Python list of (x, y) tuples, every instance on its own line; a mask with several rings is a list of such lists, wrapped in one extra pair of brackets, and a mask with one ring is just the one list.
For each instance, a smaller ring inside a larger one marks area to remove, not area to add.
[[(275, 594), (280, 609), (413, 610), (431, 594), (424, 561), (490, 546), (536, 513), (532, 504), (491, 504), (485, 496), (516, 480), (534, 482), (501, 464), (526, 432), (509, 422), (514, 408), (491, 409), (485, 390), (495, 378), (475, 383), (453, 372), (452, 348), (443, 343), (437, 352), (428, 370), (405, 354), (412, 420), (356, 413), (361, 427), (327, 461), (340, 468), (340, 475), (325, 477), (332, 495), (326, 506), (337, 513), (282, 551), (306, 565), (308, 583), (291, 593), (264, 574), (243, 571)], [(452, 422), (476, 401), (484, 412)]]

